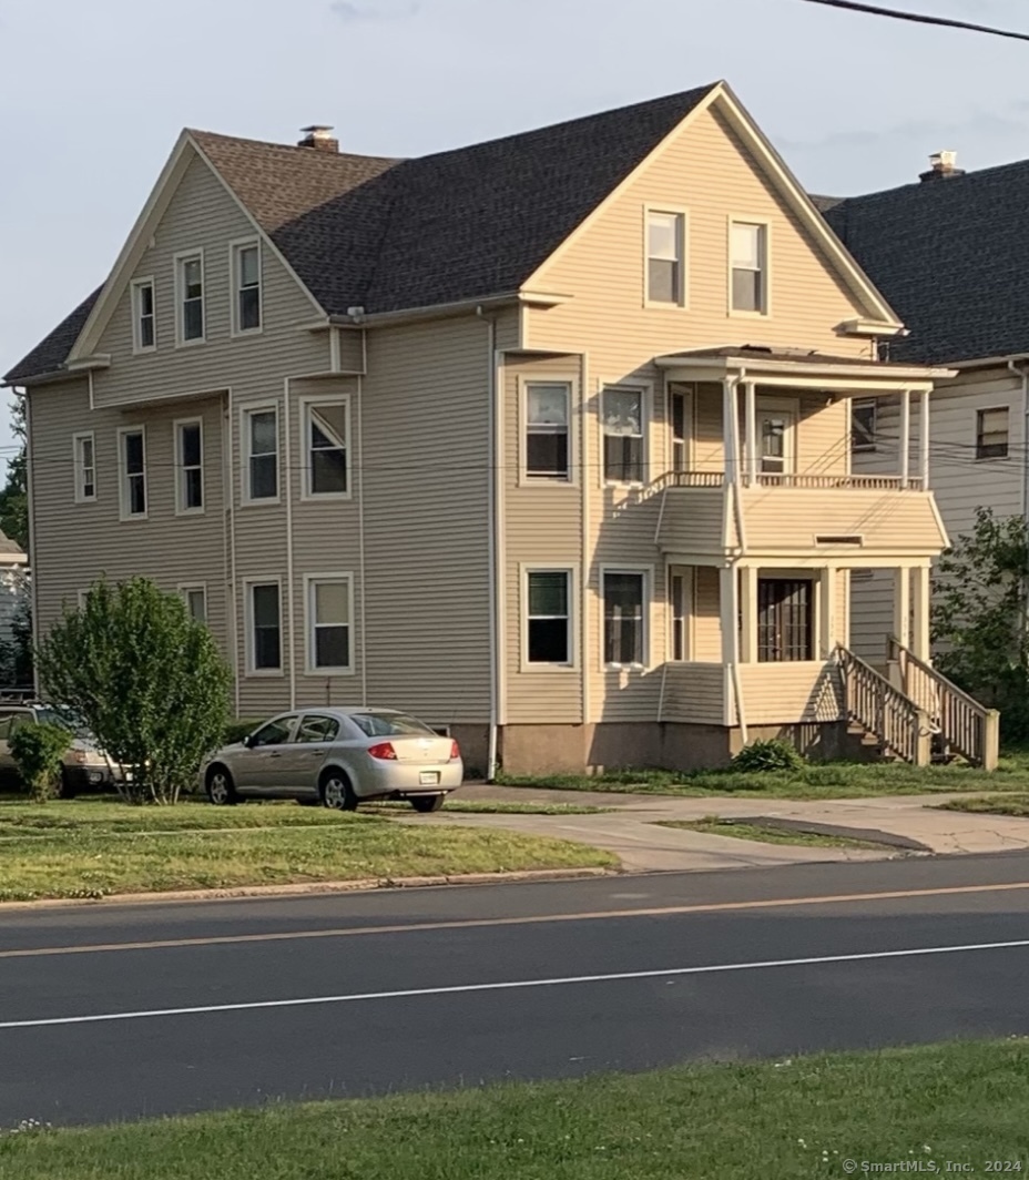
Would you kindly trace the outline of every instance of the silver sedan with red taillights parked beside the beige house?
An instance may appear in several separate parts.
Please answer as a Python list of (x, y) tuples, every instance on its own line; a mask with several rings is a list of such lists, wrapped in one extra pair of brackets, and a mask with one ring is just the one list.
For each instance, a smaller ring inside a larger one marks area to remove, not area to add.
[(273, 717), (202, 768), (212, 804), (297, 799), (354, 811), (361, 800), (407, 799), (433, 812), (461, 785), (458, 743), (392, 709), (300, 709)]

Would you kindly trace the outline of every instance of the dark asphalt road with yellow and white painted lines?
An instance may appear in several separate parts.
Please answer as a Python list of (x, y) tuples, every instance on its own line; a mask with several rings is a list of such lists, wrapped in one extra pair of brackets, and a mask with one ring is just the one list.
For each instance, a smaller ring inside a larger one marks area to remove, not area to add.
[(1027, 995), (1024, 853), (7, 911), (0, 1128), (1027, 1034)]

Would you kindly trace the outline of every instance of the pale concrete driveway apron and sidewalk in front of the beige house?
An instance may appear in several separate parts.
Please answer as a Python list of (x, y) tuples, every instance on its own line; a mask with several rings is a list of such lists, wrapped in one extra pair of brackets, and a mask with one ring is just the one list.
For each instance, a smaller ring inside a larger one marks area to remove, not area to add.
[(961, 795), (887, 795), (874, 799), (786, 800), (733, 796), (679, 799), (610, 792), (556, 791), (468, 784), (459, 798), (520, 804), (571, 804), (610, 808), (595, 815), (477, 815), (444, 811), (412, 817), (411, 822), (502, 827), (535, 835), (576, 840), (614, 852), (631, 872), (771, 867), (840, 860), (883, 860), (917, 852), (760, 844), (732, 837), (677, 831), (661, 820), (771, 818), (826, 825), (861, 839), (876, 834), (917, 841), (928, 853), (1009, 852), (1029, 848), (1029, 819), (939, 811)]

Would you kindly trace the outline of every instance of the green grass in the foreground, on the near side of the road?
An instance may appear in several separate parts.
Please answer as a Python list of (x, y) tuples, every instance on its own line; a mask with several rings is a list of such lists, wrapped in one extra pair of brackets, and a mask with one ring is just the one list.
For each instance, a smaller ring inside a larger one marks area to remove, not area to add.
[(0, 1138), (0, 1178), (795, 1180), (845, 1160), (1024, 1175), (1027, 1107), (1024, 1041), (958, 1043), (30, 1132)]

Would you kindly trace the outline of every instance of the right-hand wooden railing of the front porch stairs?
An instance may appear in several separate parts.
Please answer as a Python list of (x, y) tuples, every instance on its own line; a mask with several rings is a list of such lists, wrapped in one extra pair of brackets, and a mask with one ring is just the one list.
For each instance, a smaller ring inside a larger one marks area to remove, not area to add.
[(906, 697), (929, 716), (945, 746), (987, 771), (997, 767), (1001, 715), (969, 696), (952, 681), (890, 636), (886, 666)]

